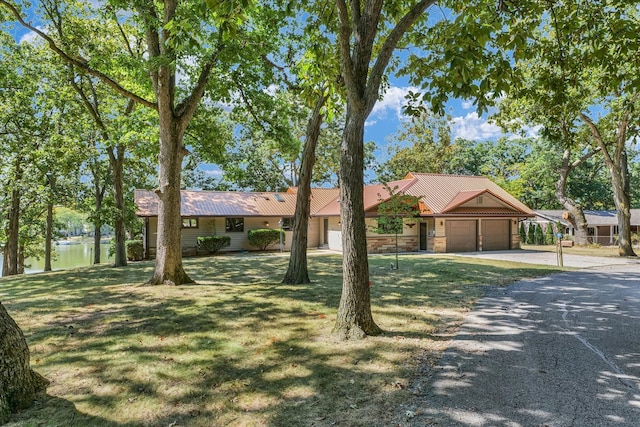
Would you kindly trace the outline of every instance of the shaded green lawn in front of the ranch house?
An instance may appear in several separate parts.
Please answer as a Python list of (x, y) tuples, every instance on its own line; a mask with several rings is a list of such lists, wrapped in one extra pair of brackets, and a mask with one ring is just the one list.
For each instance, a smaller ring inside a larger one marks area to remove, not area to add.
[(385, 333), (330, 337), (341, 258), (309, 258), (310, 285), (282, 285), (287, 258), (185, 260), (198, 285), (141, 286), (152, 263), (0, 279), (47, 396), (10, 426), (390, 425), (489, 285), (557, 271), (403, 256), (370, 260)]

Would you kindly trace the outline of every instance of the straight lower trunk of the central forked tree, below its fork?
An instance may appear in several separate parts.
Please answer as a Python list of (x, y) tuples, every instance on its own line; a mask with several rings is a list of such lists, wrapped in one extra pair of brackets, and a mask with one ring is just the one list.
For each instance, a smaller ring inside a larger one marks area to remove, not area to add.
[(369, 259), (364, 217), (364, 122), (366, 113), (347, 106), (340, 155), (340, 221), (342, 222), (342, 296), (333, 335), (361, 339), (382, 330), (371, 314)]

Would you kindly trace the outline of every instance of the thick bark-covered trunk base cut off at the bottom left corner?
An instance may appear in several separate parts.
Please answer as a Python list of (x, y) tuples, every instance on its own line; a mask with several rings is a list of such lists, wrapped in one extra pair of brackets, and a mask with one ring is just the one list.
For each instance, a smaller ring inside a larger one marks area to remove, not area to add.
[(22, 331), (0, 303), (0, 424), (28, 408), (49, 382), (29, 365), (29, 347)]

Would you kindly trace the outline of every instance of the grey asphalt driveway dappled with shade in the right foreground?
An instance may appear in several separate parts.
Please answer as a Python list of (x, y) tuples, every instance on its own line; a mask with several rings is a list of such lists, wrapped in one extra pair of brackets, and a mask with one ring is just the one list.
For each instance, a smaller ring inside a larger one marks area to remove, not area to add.
[(640, 264), (494, 288), (411, 384), (410, 426), (639, 426)]

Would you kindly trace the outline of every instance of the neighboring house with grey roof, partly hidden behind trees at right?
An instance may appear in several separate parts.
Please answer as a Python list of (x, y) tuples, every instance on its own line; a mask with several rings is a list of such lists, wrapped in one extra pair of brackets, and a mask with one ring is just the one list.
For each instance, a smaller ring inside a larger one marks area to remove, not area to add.
[[(560, 223), (565, 234), (573, 236), (573, 225), (565, 219), (567, 211), (564, 210), (539, 210), (535, 211), (536, 217), (532, 220), (546, 229), (547, 224)], [(587, 239), (589, 243), (601, 245), (617, 245), (618, 241), (618, 214), (616, 211), (585, 210), (587, 220)], [(640, 232), (640, 209), (631, 209), (631, 232)]]

